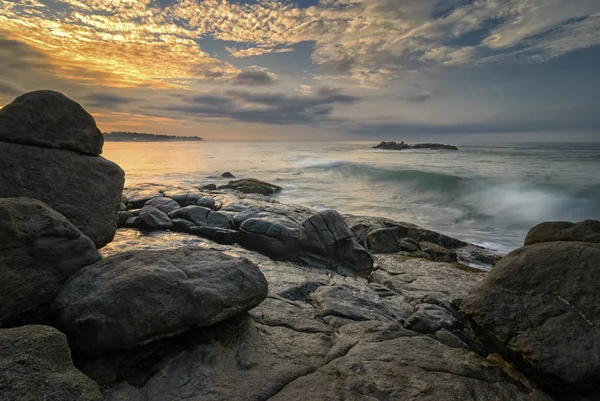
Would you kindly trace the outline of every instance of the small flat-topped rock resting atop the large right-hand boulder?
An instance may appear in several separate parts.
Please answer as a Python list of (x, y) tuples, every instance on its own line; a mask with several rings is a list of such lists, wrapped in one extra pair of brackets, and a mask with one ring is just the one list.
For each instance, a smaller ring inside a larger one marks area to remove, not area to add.
[(525, 245), (554, 241), (600, 243), (600, 221), (549, 221), (533, 227), (525, 237)]

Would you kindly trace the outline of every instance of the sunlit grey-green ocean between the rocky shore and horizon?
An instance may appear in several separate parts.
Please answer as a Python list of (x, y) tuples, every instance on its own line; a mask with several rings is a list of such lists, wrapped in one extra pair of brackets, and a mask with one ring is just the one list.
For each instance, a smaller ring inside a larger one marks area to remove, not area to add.
[(548, 220), (600, 219), (600, 143), (378, 150), (375, 142), (139, 142), (104, 145), (126, 186), (198, 186), (230, 171), (283, 187), (284, 203), (407, 221), (501, 252)]

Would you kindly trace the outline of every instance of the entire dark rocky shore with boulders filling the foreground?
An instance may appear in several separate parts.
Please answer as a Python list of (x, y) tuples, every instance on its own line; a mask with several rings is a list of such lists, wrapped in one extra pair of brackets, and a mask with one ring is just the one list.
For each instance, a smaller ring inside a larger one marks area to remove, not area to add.
[(0, 399), (600, 399), (599, 221), (503, 256), (254, 179), (123, 189), (98, 133), (0, 110)]

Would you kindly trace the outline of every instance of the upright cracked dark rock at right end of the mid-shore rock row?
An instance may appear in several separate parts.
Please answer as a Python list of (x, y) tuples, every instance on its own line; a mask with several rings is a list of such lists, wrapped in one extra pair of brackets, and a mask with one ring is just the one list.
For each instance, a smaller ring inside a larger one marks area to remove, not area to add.
[(352, 270), (370, 273), (373, 258), (354, 238), (344, 218), (335, 210), (325, 210), (306, 219), (305, 248), (317, 255), (342, 262)]

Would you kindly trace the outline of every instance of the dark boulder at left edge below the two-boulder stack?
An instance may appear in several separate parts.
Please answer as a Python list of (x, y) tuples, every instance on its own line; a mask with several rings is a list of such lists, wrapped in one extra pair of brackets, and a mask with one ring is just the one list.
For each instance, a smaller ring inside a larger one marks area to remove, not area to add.
[(42, 202), (0, 199), (0, 327), (47, 323), (62, 284), (99, 259), (94, 243)]

